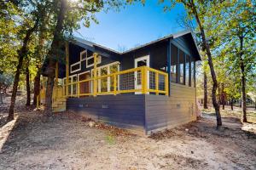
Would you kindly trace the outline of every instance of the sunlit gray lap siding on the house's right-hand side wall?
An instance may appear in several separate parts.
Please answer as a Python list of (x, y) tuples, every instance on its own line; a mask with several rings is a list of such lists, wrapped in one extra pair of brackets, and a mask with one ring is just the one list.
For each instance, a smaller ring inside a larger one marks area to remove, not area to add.
[(195, 88), (171, 83), (171, 96), (146, 95), (145, 128), (148, 133), (194, 121)]

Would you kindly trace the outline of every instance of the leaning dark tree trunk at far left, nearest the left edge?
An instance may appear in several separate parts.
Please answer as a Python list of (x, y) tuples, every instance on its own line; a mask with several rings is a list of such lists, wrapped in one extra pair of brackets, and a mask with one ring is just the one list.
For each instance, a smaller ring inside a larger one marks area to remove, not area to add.
[(36, 31), (37, 27), (38, 27), (38, 19), (36, 20), (35, 25), (32, 28), (30, 28), (29, 30), (26, 31), (26, 36), (24, 37), (23, 43), (22, 43), (23, 45), (22, 45), (22, 47), (20, 48), (20, 50), (18, 52), (19, 60), (18, 60), (18, 65), (16, 67), (15, 82), (14, 82), (14, 85), (13, 85), (13, 93), (12, 93), (12, 96), (11, 96), (11, 103), (9, 105), (9, 115), (8, 115), (7, 121), (14, 120), (14, 118), (15, 118), (15, 115), (14, 115), (14, 113), (15, 113), (15, 99), (16, 99), (18, 84), (20, 82), (20, 70), (21, 70), (21, 67), (22, 67), (23, 59), (26, 56), (27, 51), (28, 51), (27, 44), (30, 40), (30, 37), (32, 36), (33, 31)]

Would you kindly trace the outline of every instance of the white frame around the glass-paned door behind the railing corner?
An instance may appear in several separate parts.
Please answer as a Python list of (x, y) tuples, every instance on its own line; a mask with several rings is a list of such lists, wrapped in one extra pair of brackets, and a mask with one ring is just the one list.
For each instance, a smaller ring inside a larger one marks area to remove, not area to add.
[[(144, 60), (146, 59), (147, 60), (147, 63), (146, 63), (146, 66), (149, 67), (149, 64), (150, 64), (150, 56), (149, 55), (145, 55), (143, 57), (139, 57), (139, 58), (136, 58), (134, 59), (134, 68), (137, 68), (137, 62), (138, 61), (141, 61), (141, 60)], [(135, 89), (142, 89), (142, 84), (141, 85), (137, 85), (137, 71), (134, 72), (134, 88)], [(149, 72), (147, 71), (147, 88), (149, 87)], [(142, 78), (142, 77), (141, 77)], [(142, 92), (135, 92), (135, 94), (142, 94)], [(149, 94), (149, 93), (147, 93)]]

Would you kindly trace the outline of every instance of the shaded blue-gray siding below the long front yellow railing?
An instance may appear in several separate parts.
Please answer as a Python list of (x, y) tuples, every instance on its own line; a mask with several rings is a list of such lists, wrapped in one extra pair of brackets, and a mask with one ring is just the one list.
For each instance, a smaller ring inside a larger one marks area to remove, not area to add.
[(103, 95), (67, 99), (67, 110), (76, 111), (93, 119), (143, 131), (145, 122), (144, 95)]

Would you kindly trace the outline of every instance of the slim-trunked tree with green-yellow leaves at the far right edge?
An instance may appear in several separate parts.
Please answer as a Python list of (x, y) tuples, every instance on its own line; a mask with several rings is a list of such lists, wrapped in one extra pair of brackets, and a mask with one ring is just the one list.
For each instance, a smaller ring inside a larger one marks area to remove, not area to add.
[[(255, 3), (250, 1), (224, 2), (222, 37), (224, 51), (230, 54), (234, 70), (240, 70), (242, 122), (247, 122), (247, 81), (255, 74)], [(253, 55), (254, 54), (254, 55)]]

